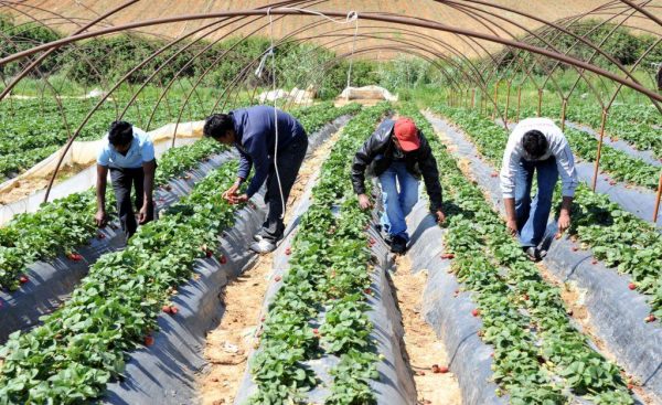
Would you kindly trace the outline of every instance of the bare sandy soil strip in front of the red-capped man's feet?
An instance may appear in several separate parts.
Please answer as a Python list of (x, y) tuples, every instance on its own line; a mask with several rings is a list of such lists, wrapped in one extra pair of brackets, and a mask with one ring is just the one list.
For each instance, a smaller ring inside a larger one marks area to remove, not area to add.
[(455, 374), (433, 372), (434, 364), (448, 365), (448, 352), (423, 317), (427, 270), (413, 274), (409, 255), (399, 256), (396, 265), (397, 271), (391, 274), (391, 279), (403, 316), (405, 350), (414, 373), (417, 404), (459, 405), (462, 397)]

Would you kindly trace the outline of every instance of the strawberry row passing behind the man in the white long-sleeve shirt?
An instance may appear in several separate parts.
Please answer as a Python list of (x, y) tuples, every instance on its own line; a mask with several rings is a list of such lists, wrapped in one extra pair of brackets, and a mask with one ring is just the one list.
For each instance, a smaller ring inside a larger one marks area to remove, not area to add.
[[(480, 152), (500, 167), (508, 142), (503, 128), (477, 113), (452, 108), (437, 111), (465, 129)], [(569, 233), (590, 247), (597, 259), (632, 277), (632, 288), (650, 298), (653, 313), (649, 321), (662, 317), (662, 235), (652, 225), (580, 184), (575, 193)]]

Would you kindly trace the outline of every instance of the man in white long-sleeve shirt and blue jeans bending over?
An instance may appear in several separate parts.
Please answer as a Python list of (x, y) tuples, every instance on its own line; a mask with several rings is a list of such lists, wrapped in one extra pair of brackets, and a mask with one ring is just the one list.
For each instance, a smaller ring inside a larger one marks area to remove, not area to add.
[[(533, 173), (537, 171), (538, 191), (531, 200)], [(554, 188), (560, 174), (563, 204), (558, 232), (570, 226), (570, 207), (577, 188), (575, 159), (566, 137), (548, 118), (527, 118), (510, 135), (501, 166), (501, 191), (508, 228), (520, 235), (522, 248), (534, 259), (552, 210)]]

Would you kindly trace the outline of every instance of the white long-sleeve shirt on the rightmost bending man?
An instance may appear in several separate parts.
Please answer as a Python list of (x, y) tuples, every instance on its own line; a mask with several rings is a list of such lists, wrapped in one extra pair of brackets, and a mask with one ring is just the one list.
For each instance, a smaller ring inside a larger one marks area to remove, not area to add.
[[(547, 152), (540, 159), (530, 157), (522, 146), (524, 134), (532, 129), (543, 132), (547, 139)], [(526, 118), (520, 121), (510, 135), (503, 153), (503, 163), (501, 164), (501, 192), (503, 193), (503, 198), (515, 198), (515, 173), (517, 172), (521, 159), (530, 161), (546, 160), (552, 156), (556, 158), (563, 196), (574, 196), (578, 184), (575, 159), (568, 140), (563, 135), (560, 128), (548, 118)]]

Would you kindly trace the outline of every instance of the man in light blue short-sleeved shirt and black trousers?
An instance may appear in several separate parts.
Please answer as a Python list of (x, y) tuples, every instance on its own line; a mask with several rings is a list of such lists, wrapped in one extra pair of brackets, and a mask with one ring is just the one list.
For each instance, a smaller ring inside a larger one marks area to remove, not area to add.
[(149, 136), (129, 122), (115, 121), (110, 125), (105, 145), (97, 158), (97, 213), (95, 221), (104, 226), (106, 215), (106, 179), (110, 170), (113, 189), (117, 200), (117, 211), (121, 228), (131, 237), (138, 224), (131, 206), (131, 189), (136, 189), (136, 209), (139, 210), (138, 223), (153, 220), (153, 188), (157, 161), (154, 146)]

